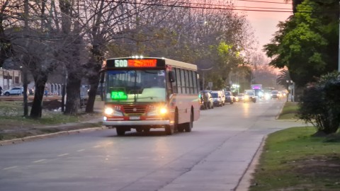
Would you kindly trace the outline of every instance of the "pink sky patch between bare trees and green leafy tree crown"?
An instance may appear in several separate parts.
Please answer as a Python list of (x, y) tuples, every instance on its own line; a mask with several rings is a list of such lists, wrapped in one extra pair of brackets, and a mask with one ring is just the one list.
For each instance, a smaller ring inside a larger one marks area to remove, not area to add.
[[(284, 0), (234, 0), (234, 6), (239, 9), (247, 10), (272, 10), (267, 12), (238, 11), (239, 13), (246, 15), (251, 27), (254, 29), (254, 35), (259, 41), (259, 51), (263, 49), (263, 45), (266, 45), (270, 42), (273, 34), (278, 30), (278, 28), (276, 28), (278, 22), (285, 21), (290, 15), (293, 14), (291, 3), (285, 4)], [(289, 12), (275, 12), (273, 10)]]

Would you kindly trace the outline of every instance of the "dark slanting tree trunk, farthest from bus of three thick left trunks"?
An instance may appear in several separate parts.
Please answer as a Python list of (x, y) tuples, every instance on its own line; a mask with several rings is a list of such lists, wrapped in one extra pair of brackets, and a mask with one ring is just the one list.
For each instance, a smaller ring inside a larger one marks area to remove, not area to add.
[(45, 91), (45, 83), (47, 82), (47, 74), (39, 73), (39, 76), (34, 76), (35, 93), (30, 117), (33, 119), (41, 118), (42, 115), (42, 98)]

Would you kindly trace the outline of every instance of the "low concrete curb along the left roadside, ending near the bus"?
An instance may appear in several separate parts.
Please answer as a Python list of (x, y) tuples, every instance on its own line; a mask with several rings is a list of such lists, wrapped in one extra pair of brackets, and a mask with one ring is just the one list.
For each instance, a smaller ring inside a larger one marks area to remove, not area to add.
[(85, 129), (74, 129), (74, 130), (66, 130), (62, 132), (55, 132), (55, 133), (49, 133), (49, 134), (38, 134), (30, 137), (23, 137), (18, 139), (10, 139), (10, 140), (4, 140), (0, 141), (0, 146), (8, 145), (8, 144), (18, 144), (25, 141), (33, 141), (37, 139), (45, 139), (47, 137), (57, 137), (59, 135), (65, 135), (65, 134), (76, 134), (80, 132), (87, 132), (87, 131), (96, 131), (96, 130), (102, 130), (102, 129), (108, 129), (108, 127), (89, 127)]

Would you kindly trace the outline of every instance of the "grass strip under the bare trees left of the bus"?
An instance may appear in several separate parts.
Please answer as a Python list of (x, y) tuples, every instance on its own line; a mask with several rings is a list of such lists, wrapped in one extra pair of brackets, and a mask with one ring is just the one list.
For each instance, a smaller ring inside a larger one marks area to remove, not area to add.
[[(30, 111), (30, 108), (29, 110)], [(37, 134), (60, 132), (101, 126), (100, 123), (86, 122), (98, 118), (101, 114), (63, 115), (62, 112), (42, 111), (42, 117), (34, 120), (23, 117), (23, 101), (0, 101), (0, 140), (23, 138)], [(81, 125), (72, 122), (86, 122)], [(67, 124), (67, 125), (66, 125)]]

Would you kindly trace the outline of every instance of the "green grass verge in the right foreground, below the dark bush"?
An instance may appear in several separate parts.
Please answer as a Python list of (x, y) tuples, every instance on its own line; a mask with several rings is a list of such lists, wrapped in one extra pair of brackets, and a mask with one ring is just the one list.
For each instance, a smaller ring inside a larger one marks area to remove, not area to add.
[(293, 127), (270, 134), (249, 190), (340, 190), (340, 143), (315, 132)]

